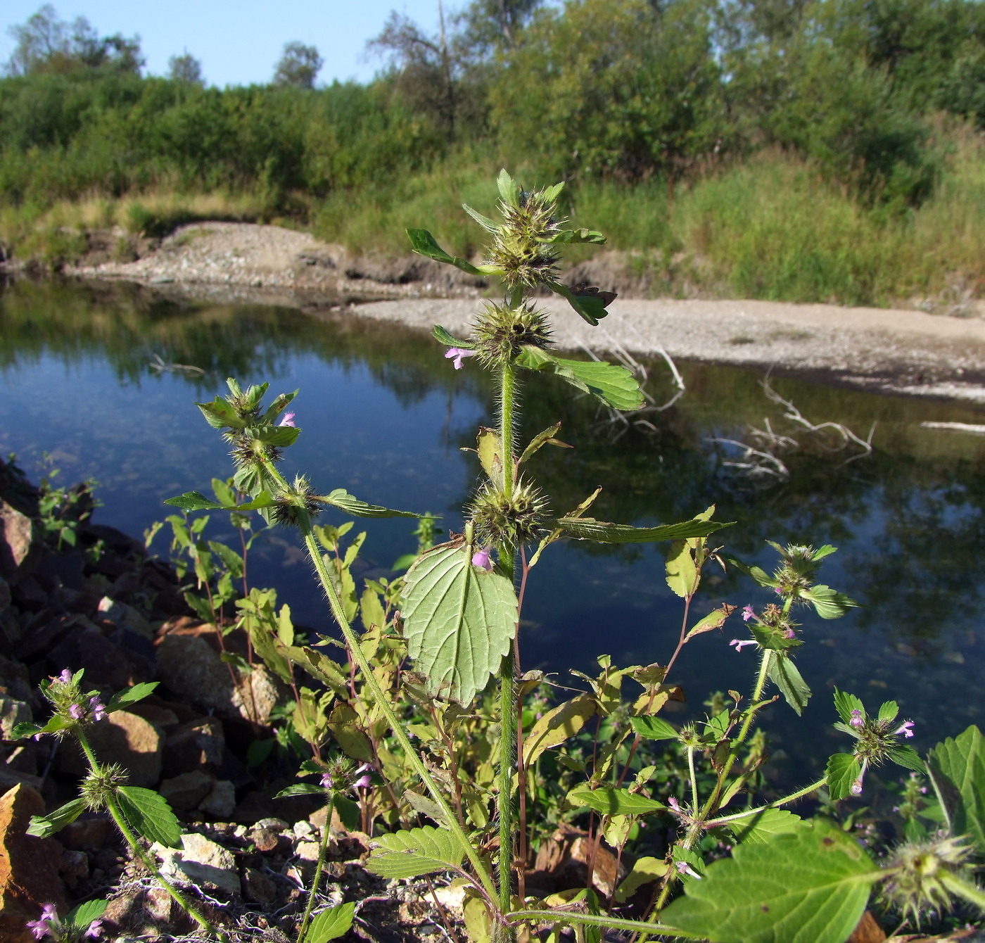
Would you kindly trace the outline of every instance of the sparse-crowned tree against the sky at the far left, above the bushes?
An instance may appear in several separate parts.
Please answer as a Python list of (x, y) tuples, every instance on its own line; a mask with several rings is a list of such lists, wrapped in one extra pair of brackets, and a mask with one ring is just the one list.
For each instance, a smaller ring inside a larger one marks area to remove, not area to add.
[(99, 36), (85, 17), (69, 24), (58, 19), (55, 8), (44, 4), (21, 26), (8, 30), (16, 41), (7, 72), (74, 72), (103, 69), (139, 74), (144, 65), (140, 36), (127, 38), (116, 33)]

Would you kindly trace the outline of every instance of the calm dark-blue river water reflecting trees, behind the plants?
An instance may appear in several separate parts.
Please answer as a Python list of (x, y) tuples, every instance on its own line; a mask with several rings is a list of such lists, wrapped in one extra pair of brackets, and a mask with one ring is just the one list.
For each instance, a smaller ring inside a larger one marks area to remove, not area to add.
[[(35, 480), (45, 452), (63, 483), (96, 478), (103, 502), (96, 520), (140, 535), (169, 512), (165, 498), (208, 493), (212, 477), (231, 473), (221, 438), (193, 403), (225, 392), (228, 375), (244, 385), (269, 380), (273, 392), (300, 389), (293, 408), (303, 434), (286, 455), (289, 477), (303, 471), (319, 491), (345, 487), (374, 504), (430, 510), (458, 528), (477, 468), (462, 448), (475, 444), (479, 425), (492, 424), (494, 398), (474, 365), (455, 371), (441, 355), (426, 335), (341, 313), (179, 305), (137, 290), (19, 283), (0, 293), (0, 450), (16, 452)], [(155, 357), (205, 372), (154, 370)], [(765, 418), (782, 426), (759, 373), (679, 367), (688, 391), (654, 420), (655, 434), (614, 442), (590, 401), (536, 375), (525, 389), (524, 435), (560, 420), (561, 438), (574, 446), (544, 449), (533, 465), (556, 511), (603, 485), (594, 508), (601, 519), (652, 524), (717, 504), (720, 519), (737, 521), (720, 535), (723, 556), (767, 569), (775, 559), (767, 539), (839, 548), (822, 581), (864, 608), (834, 622), (801, 611), (798, 666), (815, 697), (799, 721), (785, 706), (772, 708), (778, 775), (809, 775), (847, 745), (830, 730), (834, 684), (874, 706), (898, 701), (917, 723), (918, 749), (980, 722), (985, 442), (920, 428), (927, 420), (980, 423), (980, 411), (776, 377), (774, 387), (816, 422), (843, 422), (863, 436), (876, 422), (876, 450), (843, 465), (807, 449), (789, 459), (788, 483), (752, 489), (723, 468), (722, 447), (711, 439), (741, 438)], [(654, 365), (658, 397), (664, 372)], [(215, 537), (231, 539), (226, 515), (213, 525)], [(386, 573), (415, 547), (406, 520), (363, 526), (364, 573)], [(156, 549), (166, 555), (164, 536)], [(568, 668), (591, 671), (602, 653), (619, 665), (666, 660), (682, 610), (664, 581), (665, 552), (552, 548), (531, 576), (522, 667), (555, 672), (566, 684), (576, 680)], [(265, 536), (251, 572), (254, 582), (277, 587), (297, 623), (333, 631), (289, 533)], [(723, 600), (768, 598), (730, 570), (706, 580), (695, 607), (703, 614)], [(676, 706), (675, 720), (699, 716), (714, 690), (750, 688), (755, 655), (730, 648), (735, 636), (745, 637), (738, 621), (685, 649), (675, 670), (688, 703)]]

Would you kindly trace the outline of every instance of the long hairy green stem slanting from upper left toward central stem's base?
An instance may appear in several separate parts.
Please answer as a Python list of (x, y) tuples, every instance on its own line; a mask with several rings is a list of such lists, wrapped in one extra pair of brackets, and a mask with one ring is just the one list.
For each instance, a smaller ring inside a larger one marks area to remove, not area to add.
[[(276, 468), (268, 466), (267, 472), (282, 489), (287, 490), (288, 483), (284, 480), (284, 477), (279, 471), (277, 471)], [(469, 859), (469, 863), (472, 865), (476, 878), (482, 885), (483, 891), (491, 901), (494, 901), (495, 886), (493, 885), (493, 879), (489, 873), (489, 869), (483, 862), (483, 859), (480, 857), (479, 852), (473, 846), (472, 842), (469, 841), (469, 837), (466, 835), (465, 829), (463, 829), (459, 823), (458, 817), (452, 811), (451, 806), (444, 797), (444, 794), (441, 792), (438, 784), (434, 781), (434, 777), (427, 772), (427, 767), (418, 755), (418, 752), (414, 749), (414, 745), (411, 743), (410, 738), (407, 736), (407, 732), (404, 730), (402, 721), (387, 701), (386, 694), (380, 686), (379, 681), (376, 679), (376, 676), (373, 674), (372, 666), (369, 664), (369, 660), (362, 651), (359, 637), (356, 635), (356, 631), (353, 629), (350, 621), (346, 618), (346, 612), (342, 605), (342, 599), (339, 597), (339, 591), (335, 588), (335, 583), (332, 581), (332, 576), (328, 572), (328, 568), (325, 566), (325, 561), (322, 559), (321, 550), (318, 547), (318, 541), (315, 539), (314, 531), (311, 528), (311, 519), (303, 507), (297, 508), (297, 511), (298, 526), (300, 528), (301, 535), (304, 538), (304, 546), (307, 549), (308, 557), (311, 559), (311, 565), (314, 567), (314, 572), (318, 576), (318, 581), (321, 583), (321, 588), (324, 590), (325, 595), (328, 598), (328, 605), (332, 611), (332, 617), (339, 624), (339, 628), (342, 630), (342, 635), (346, 640), (346, 645), (349, 648), (350, 656), (356, 661), (356, 664), (362, 672), (364, 684), (372, 693), (373, 698), (376, 700), (377, 706), (389, 722), (390, 730), (403, 749), (408, 762), (414, 768), (414, 772), (421, 777), (421, 781), (424, 782), (427, 791), (431, 795), (431, 798), (437, 803), (438, 807), (441, 809), (441, 812), (444, 814), (448, 831), (455, 837), (455, 841), (458, 842), (462, 852)]]

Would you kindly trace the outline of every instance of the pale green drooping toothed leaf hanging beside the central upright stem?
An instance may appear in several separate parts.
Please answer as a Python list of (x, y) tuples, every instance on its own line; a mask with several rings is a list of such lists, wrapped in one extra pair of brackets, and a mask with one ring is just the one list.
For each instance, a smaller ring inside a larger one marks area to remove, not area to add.
[(407, 572), (404, 637), (429, 693), (468, 705), (516, 633), (513, 583), (472, 566), (469, 545), (438, 547)]

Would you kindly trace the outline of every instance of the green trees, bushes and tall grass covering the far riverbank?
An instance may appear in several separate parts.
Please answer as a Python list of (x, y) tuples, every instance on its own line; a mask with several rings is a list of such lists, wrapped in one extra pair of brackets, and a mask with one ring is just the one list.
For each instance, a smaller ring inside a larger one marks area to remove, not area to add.
[(313, 47), (303, 81), (227, 89), (183, 60), (144, 77), (88, 25), (44, 55), (47, 10), (0, 80), (0, 242), (24, 258), (207, 218), (387, 251), (428, 218), (469, 255), (458, 200), (508, 163), (564, 179), (652, 292), (947, 309), (985, 276), (970, 0), (473, 0), (436, 36), (392, 14), (377, 78), (317, 89)]

